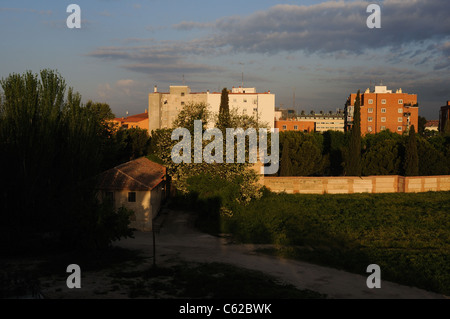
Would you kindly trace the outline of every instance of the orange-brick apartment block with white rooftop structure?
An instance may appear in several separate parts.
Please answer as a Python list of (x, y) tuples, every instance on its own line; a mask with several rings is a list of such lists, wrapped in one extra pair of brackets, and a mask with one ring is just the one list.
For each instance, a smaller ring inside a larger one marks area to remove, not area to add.
[[(388, 90), (386, 86), (375, 86), (360, 94), (361, 134), (378, 133), (390, 130), (402, 134), (414, 125), (416, 131), (419, 121), (417, 94), (403, 93), (402, 89)], [(350, 94), (345, 106), (345, 127), (353, 125), (356, 93)]]

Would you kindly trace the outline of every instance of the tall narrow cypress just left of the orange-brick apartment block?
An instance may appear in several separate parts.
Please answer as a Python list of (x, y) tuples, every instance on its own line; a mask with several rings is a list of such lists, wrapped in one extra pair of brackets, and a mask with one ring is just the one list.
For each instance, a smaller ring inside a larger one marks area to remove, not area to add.
[(346, 173), (348, 176), (361, 176), (361, 99), (360, 91), (356, 95), (353, 113), (353, 127), (346, 159)]

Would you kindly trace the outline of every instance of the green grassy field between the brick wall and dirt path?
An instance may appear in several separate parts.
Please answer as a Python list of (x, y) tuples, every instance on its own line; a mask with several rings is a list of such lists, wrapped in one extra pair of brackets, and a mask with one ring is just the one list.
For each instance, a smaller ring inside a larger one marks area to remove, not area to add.
[(220, 217), (222, 232), (267, 253), (450, 295), (450, 192), (291, 195), (265, 192)]

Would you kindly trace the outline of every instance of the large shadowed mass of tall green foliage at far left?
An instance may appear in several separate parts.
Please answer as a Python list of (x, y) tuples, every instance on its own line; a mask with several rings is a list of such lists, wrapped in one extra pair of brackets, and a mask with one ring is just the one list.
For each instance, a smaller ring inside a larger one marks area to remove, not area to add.
[[(56, 71), (11, 74), (0, 84), (0, 174), (7, 181), (0, 185), (1, 243), (25, 248), (49, 238), (55, 244), (68, 233), (74, 245), (83, 236), (96, 240), (101, 234), (86, 231), (92, 225), (79, 218), (86, 211), (77, 203), (91, 207), (94, 197), (85, 192), (93, 185), (86, 181), (104, 166), (106, 126)], [(96, 209), (89, 212), (100, 214)], [(102, 242), (116, 235), (125, 234), (109, 233)]]

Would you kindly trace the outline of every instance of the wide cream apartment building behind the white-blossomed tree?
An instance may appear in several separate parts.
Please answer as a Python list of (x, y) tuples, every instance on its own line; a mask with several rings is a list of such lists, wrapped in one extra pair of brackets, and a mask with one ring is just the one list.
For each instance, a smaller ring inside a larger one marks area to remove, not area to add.
[[(205, 103), (213, 114), (218, 114), (221, 95), (222, 92), (191, 92), (189, 86), (170, 86), (169, 92), (158, 92), (155, 86), (148, 98), (150, 131), (172, 128), (179, 112), (191, 103)], [(228, 100), (230, 110), (236, 109), (239, 114), (254, 116), (269, 128), (274, 127), (275, 95), (270, 91), (258, 93), (256, 88), (233, 87)]]

